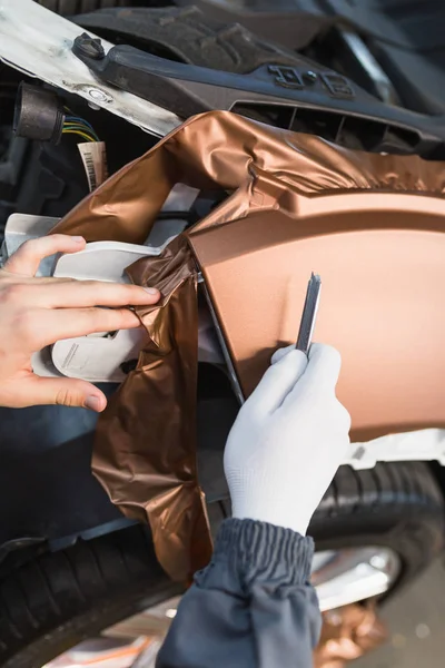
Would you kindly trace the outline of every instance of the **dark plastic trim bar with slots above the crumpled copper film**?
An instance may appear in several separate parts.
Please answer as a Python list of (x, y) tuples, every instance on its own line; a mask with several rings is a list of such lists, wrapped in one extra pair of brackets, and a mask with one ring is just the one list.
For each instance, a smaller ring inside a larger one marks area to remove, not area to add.
[(435, 159), (444, 155), (441, 117), (386, 105), (345, 76), (298, 55), (291, 65), (271, 59), (243, 75), (172, 62), (126, 45), (103, 58), (80, 59), (99, 79), (184, 118), (229, 109), (350, 148)]

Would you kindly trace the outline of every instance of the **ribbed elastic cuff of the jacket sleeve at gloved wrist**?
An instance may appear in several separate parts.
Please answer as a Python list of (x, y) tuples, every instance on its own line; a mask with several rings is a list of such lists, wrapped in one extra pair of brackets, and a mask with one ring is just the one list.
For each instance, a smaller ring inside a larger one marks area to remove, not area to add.
[(254, 581), (277, 586), (308, 582), (314, 541), (291, 529), (255, 520), (225, 520), (219, 529), (212, 566), (226, 563), (241, 587)]

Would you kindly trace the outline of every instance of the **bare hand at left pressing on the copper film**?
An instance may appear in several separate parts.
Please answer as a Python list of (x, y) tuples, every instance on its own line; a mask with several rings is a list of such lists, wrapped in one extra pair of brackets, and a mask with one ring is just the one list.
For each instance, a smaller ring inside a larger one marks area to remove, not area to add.
[(82, 237), (60, 234), (30, 240), (0, 269), (0, 405), (61, 404), (98, 412), (106, 407), (105, 395), (91, 383), (42, 379), (31, 367), (32, 353), (61, 338), (138, 327), (138, 317), (126, 306), (159, 299), (158, 291), (136, 285), (36, 278), (43, 257), (76, 253), (85, 245)]

